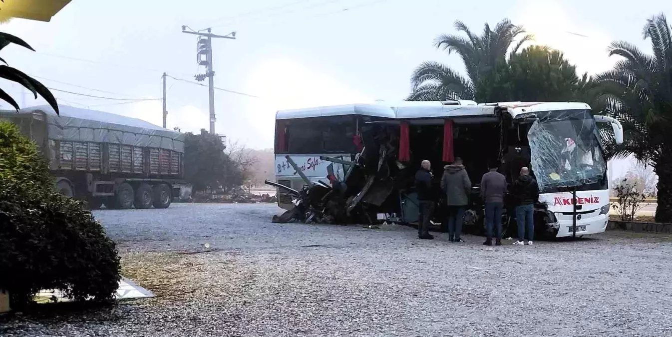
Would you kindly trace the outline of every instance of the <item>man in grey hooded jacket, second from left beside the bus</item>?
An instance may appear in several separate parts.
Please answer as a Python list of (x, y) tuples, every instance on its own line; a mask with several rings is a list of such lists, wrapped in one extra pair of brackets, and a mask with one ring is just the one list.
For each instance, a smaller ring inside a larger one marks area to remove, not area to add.
[(462, 165), (462, 158), (456, 157), (451, 165), (444, 167), (441, 188), (446, 192), (448, 205), (448, 239), (462, 242), (462, 221), (471, 192), (471, 181)]

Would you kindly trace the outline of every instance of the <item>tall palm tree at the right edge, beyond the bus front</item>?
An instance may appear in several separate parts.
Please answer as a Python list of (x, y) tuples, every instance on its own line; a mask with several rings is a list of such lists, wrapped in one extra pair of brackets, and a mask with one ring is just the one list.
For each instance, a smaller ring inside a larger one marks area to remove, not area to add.
[(596, 110), (620, 120), (624, 145), (617, 156), (634, 155), (658, 174), (656, 221), (672, 222), (672, 34), (665, 15), (646, 20), (644, 39), (653, 54), (628, 42), (612, 42), (609, 54), (622, 57), (614, 69), (595, 77)]

